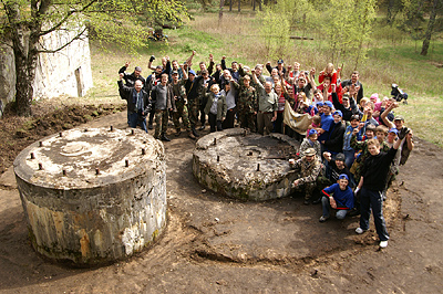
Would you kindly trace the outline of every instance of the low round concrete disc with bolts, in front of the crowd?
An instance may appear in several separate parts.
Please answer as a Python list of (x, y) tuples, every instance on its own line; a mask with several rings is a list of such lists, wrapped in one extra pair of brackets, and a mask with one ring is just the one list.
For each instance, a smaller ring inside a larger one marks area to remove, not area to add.
[(212, 133), (197, 141), (193, 172), (198, 182), (241, 200), (269, 200), (293, 192), (297, 175), (287, 159), (299, 143), (281, 134), (261, 136), (240, 128)]

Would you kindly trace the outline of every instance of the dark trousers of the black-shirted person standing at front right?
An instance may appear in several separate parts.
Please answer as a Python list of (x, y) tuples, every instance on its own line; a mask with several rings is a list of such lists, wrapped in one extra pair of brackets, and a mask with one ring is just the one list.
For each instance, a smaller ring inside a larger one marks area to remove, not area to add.
[(360, 228), (364, 231), (369, 229), (369, 217), (372, 214), (374, 218), (377, 234), (380, 241), (388, 241), (389, 234), (387, 230), (387, 223), (383, 218), (383, 197), (381, 191), (369, 190), (361, 188), (360, 192)]

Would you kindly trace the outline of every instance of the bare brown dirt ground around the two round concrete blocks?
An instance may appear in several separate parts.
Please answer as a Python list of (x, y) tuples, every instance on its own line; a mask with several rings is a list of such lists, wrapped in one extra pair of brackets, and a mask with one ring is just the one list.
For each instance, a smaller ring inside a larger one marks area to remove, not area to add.
[[(125, 127), (125, 113), (87, 124)], [(174, 137), (174, 136), (172, 136)], [(11, 168), (0, 179), (1, 293), (440, 293), (443, 153), (416, 140), (389, 192), (391, 240), (356, 235), (358, 218), (319, 223), (299, 198), (238, 202), (198, 186), (194, 143), (167, 153), (168, 225), (150, 250), (100, 269), (68, 269), (31, 249)], [(408, 217), (406, 217), (408, 216)], [(373, 225), (372, 225), (373, 229)]]

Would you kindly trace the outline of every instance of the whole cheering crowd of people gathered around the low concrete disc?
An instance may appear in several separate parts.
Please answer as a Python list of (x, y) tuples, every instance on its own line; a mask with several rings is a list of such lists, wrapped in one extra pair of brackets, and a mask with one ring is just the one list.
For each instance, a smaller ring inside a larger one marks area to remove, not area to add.
[[(176, 136), (184, 128), (195, 139), (207, 118), (210, 132), (239, 126), (293, 137), (300, 141), (299, 158), (289, 165), (299, 171), (292, 186), (305, 195), (303, 203), (322, 204), (320, 222), (332, 210), (338, 219), (360, 214), (357, 233), (369, 229), (372, 210), (380, 246), (387, 246), (383, 201), (414, 147), (412, 130), (393, 113), (395, 99), (365, 97), (359, 72), (342, 80), (341, 69), (331, 63), (316, 76), (316, 69), (301, 70), (298, 62), (285, 66), (282, 60), (254, 67), (233, 61), (227, 67), (225, 56), (216, 64), (209, 54), (208, 65), (202, 61), (193, 66), (195, 54), (184, 63), (164, 56), (156, 66), (151, 56), (153, 73), (146, 78), (140, 66), (126, 73), (128, 62), (119, 71), (130, 127), (147, 133), (155, 120), (154, 137), (169, 141), (172, 118)], [(309, 124), (301, 129), (286, 124), (289, 111)]]

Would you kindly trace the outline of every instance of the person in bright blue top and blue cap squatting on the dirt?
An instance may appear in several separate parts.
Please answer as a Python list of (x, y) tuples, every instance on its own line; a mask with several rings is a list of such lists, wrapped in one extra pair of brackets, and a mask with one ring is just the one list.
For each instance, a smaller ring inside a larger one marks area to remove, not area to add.
[(353, 208), (353, 192), (348, 183), (349, 177), (346, 174), (341, 174), (337, 183), (322, 190), (321, 206), (323, 214), (319, 219), (320, 222), (324, 222), (330, 218), (331, 208), (337, 210), (336, 218), (339, 220), (344, 219), (348, 211)]

